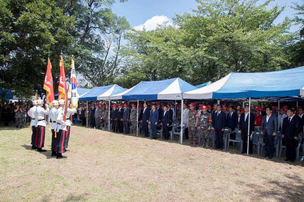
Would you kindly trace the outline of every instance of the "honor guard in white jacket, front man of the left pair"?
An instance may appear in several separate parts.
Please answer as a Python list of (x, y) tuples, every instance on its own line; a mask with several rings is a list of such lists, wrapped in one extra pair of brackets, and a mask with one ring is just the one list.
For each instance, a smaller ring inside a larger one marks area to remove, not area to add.
[(44, 147), (44, 138), (45, 138), (45, 126), (46, 126), (46, 121), (45, 121), (45, 116), (49, 114), (50, 110), (47, 107), (47, 110), (43, 109), (43, 100), (38, 99), (37, 100), (37, 107), (36, 107), (36, 112), (35, 112), (35, 119), (37, 119), (36, 123), (36, 128), (37, 128), (37, 142), (36, 142), (36, 147), (37, 151), (39, 152), (46, 152), (47, 150), (43, 150), (42, 148)]

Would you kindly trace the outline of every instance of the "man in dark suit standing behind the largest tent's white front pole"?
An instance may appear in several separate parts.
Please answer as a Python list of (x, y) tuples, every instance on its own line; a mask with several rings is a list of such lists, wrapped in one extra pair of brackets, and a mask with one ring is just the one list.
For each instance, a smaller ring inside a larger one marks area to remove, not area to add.
[[(249, 123), (249, 148), (248, 148), (248, 153), (252, 154), (252, 137), (251, 135), (254, 134), (254, 115), (253, 113), (249, 112), (249, 106), (246, 105), (244, 108), (244, 113), (241, 113), (240, 115), (240, 133), (242, 136), (242, 143), (243, 143), (243, 148), (242, 148), (242, 153), (247, 152), (247, 144), (246, 140), (248, 140), (248, 121), (249, 121), (249, 116), (250, 116), (250, 123)], [(275, 115), (274, 115), (275, 116)]]

